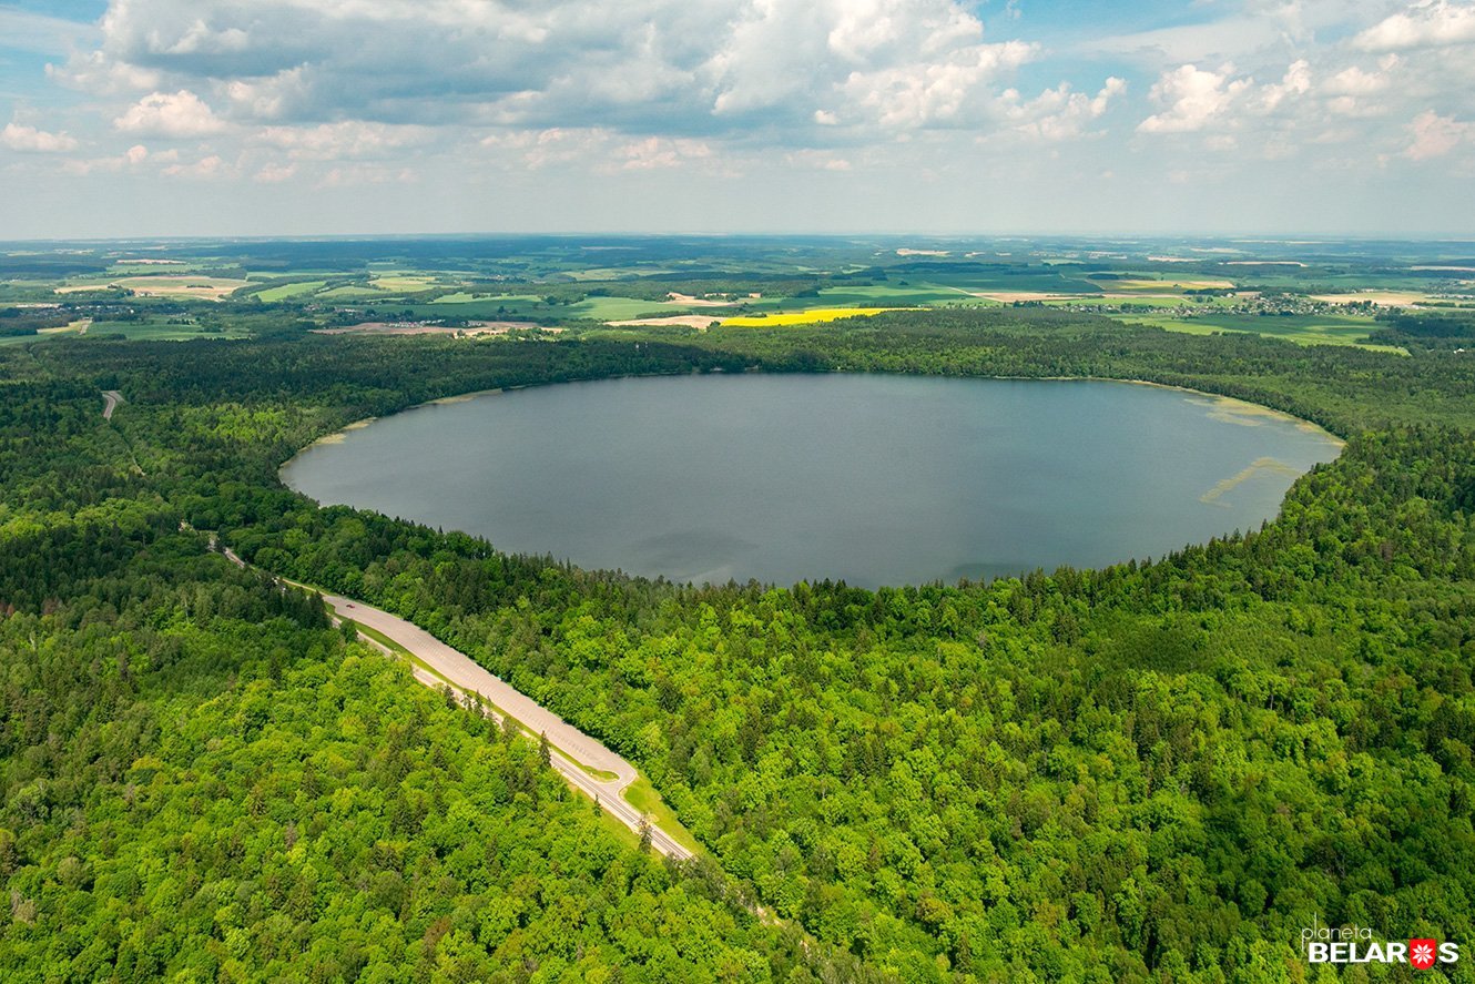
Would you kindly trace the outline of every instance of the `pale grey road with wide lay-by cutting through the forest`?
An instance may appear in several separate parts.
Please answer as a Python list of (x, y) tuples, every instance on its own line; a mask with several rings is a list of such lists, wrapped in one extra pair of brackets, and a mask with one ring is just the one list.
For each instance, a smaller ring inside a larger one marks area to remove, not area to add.
[[(232, 564), (245, 567), (245, 561), (236, 556), (229, 547), (224, 550), (224, 555)], [(353, 620), (355, 624), (372, 628), (391, 642), (404, 646), (404, 649), (420, 661), (412, 662), (410, 668), (414, 673), (414, 679), (425, 686), (440, 690), (445, 685), (450, 685), (456, 690), (457, 698), (468, 707), (476, 696), (481, 698), (482, 705), (490, 704), (491, 714), (499, 723), (503, 717), (512, 717), (528, 735), (534, 738), (547, 735), (549, 745), (552, 746), (549, 763), (571, 786), (590, 800), (596, 800), (605, 813), (631, 831), (639, 834), (642, 826), (648, 825), (650, 829), (650, 847), (661, 854), (678, 860), (692, 857), (690, 850), (677, 842), (676, 838), (653, 822), (648, 823), (645, 814), (625, 800), (625, 788), (640, 773), (628, 761), (609, 751), (603, 742), (578, 730), (528, 695), (512, 687), (507, 682), (488, 673), (466, 654), (447, 646), (419, 626), (373, 605), (366, 605), (341, 595), (323, 593), (323, 602), (338, 618)], [(363, 637), (378, 645), (367, 634)], [(589, 770), (608, 773), (614, 777), (602, 779), (590, 775)]]

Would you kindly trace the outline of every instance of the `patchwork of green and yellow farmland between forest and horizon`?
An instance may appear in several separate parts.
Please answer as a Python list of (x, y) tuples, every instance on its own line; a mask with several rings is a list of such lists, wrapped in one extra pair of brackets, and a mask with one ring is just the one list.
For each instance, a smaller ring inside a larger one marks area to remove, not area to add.
[[(1302, 345), (1366, 347), (1361, 339), (1381, 325), (1375, 316), (1475, 305), (1475, 260), (1462, 249), (1401, 249), (1392, 260), (1347, 243), (1153, 240), (1118, 249), (1022, 239), (904, 246), (884, 239), (698, 239), (609, 248), (515, 238), (353, 248), (201, 242), (122, 257), (86, 248), (55, 257), (0, 254), (0, 310), (49, 301), (65, 305), (69, 320), (91, 317), (128, 338), (184, 339), (201, 332), (170, 322), (237, 299), (270, 304), (280, 317), (316, 328), (388, 322), (426, 329), (398, 335), (454, 333), (502, 319), (572, 332), (599, 330), (596, 323), (621, 332), (699, 332), (712, 322), (782, 328), (878, 310), (1024, 304), (1180, 333), (1252, 332)], [(1354, 311), (1353, 304), (1363, 307)], [(255, 330), (237, 322), (223, 333)]]

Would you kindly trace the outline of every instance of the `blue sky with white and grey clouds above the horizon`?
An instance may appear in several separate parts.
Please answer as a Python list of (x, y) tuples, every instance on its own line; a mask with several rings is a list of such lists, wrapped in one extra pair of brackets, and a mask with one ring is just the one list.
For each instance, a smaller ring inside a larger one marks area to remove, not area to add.
[(0, 0), (0, 239), (1475, 239), (1475, 0)]

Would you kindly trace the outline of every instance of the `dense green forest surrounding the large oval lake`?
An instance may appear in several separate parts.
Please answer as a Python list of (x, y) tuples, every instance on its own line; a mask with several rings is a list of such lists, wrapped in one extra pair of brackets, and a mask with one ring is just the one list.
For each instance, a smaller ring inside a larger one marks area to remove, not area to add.
[[(0, 350), (0, 966), (1298, 981), (1332, 974), (1298, 952), (1313, 921), (1475, 944), (1475, 369), (1409, 351), (1034, 310)], [(752, 369), (1148, 379), (1350, 443), (1260, 531), (879, 592), (580, 571), (276, 479), (316, 437), (429, 398)], [(128, 400), (111, 423), (102, 389)], [(599, 735), (708, 856), (640, 854), (535, 748), (232, 569), (205, 530)]]

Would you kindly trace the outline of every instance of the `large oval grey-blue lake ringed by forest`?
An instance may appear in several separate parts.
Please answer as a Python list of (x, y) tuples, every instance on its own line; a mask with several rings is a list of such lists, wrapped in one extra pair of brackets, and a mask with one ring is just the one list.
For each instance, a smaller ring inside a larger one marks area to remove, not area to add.
[(711, 375), (428, 404), (308, 447), (282, 478), (584, 568), (873, 587), (1103, 567), (1258, 530), (1339, 447), (1161, 387)]

